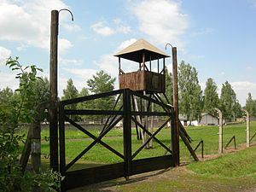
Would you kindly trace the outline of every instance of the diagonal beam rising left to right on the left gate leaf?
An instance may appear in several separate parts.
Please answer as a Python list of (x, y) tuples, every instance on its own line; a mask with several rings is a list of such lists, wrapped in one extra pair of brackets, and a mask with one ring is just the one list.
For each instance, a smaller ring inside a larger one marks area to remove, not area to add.
[[(67, 119), (67, 116), (65, 116), (65, 118)], [(113, 125), (109, 126), (108, 129), (106, 129), (106, 131), (102, 132), (102, 135), (100, 135), (99, 137), (96, 137), (96, 140), (90, 143), (90, 145), (87, 148), (84, 148), (84, 150), (66, 166), (66, 170), (68, 170), (71, 166), (73, 166), (73, 164), (75, 164), (75, 162), (77, 162), (87, 151), (89, 151), (90, 148), (95, 146), (96, 143), (100, 143), (102, 137), (104, 137), (108, 133), (108, 131), (110, 131), (113, 128), (114, 125), (117, 125), (121, 119), (123, 119), (122, 116), (120, 116), (119, 119), (115, 120)]]

